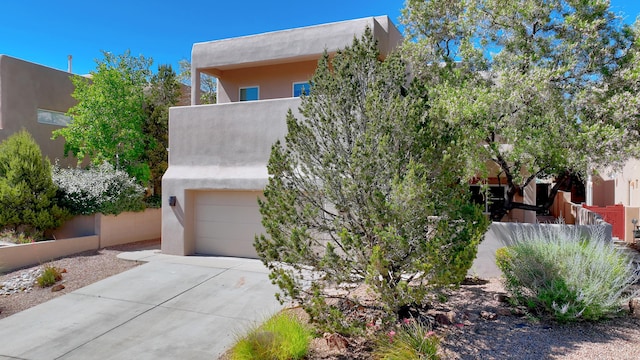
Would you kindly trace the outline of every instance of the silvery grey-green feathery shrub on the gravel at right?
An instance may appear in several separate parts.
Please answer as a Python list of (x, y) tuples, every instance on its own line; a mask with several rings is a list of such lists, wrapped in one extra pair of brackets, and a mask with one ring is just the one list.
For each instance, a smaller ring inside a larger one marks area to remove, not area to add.
[(605, 240), (603, 227), (539, 226), (499, 249), (496, 261), (513, 301), (559, 322), (599, 320), (637, 296), (632, 260)]

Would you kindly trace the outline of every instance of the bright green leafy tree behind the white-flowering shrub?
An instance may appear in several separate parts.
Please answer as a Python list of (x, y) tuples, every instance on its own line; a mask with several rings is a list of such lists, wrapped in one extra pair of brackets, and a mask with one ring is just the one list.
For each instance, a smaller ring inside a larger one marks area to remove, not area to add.
[(71, 152), (80, 161), (88, 156), (94, 165), (107, 161), (146, 183), (144, 89), (152, 60), (132, 57), (129, 51), (103, 55), (90, 78), (72, 77), (72, 96), (78, 101), (68, 111), (73, 121), (53, 137), (64, 137), (65, 155)]

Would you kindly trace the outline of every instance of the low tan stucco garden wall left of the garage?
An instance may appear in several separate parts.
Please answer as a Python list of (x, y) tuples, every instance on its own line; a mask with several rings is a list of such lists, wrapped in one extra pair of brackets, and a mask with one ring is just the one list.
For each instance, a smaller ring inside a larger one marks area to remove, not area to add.
[(55, 240), (0, 247), (0, 270), (45, 263), (88, 250), (159, 239), (161, 210), (77, 216), (53, 232)]

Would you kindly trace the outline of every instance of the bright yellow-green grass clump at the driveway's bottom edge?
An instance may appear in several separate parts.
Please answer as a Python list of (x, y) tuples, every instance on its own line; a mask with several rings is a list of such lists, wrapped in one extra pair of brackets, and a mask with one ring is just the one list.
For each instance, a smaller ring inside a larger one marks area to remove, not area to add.
[(239, 339), (231, 359), (303, 359), (313, 339), (313, 331), (290, 314), (279, 313)]

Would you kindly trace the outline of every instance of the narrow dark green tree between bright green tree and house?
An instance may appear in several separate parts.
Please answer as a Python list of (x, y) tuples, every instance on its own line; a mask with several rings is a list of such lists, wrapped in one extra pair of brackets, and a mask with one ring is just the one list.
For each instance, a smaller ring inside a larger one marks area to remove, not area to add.
[(171, 65), (160, 65), (151, 78), (146, 100), (145, 162), (149, 164), (153, 194), (160, 195), (162, 175), (167, 170), (169, 147), (169, 107), (180, 100), (180, 83)]

